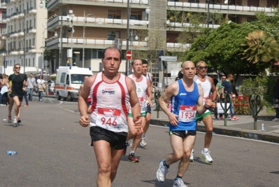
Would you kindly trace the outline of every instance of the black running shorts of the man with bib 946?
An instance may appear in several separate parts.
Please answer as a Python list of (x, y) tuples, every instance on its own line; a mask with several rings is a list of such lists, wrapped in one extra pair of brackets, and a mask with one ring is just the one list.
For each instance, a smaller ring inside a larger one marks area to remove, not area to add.
[(127, 132), (113, 132), (103, 129), (102, 127), (90, 127), (90, 135), (93, 141), (105, 140), (110, 143), (110, 146), (114, 149), (123, 149), (126, 146)]

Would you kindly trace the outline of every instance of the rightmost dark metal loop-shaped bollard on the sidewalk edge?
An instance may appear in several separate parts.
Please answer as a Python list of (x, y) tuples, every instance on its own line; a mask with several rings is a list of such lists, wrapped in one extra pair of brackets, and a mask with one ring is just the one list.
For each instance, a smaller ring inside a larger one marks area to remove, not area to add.
[(254, 118), (254, 130), (257, 130), (257, 118), (259, 111), (262, 110), (263, 107), (263, 99), (261, 95), (257, 95), (257, 92), (255, 92), (255, 95), (250, 95), (249, 97), (249, 107), (252, 111), (252, 115)]

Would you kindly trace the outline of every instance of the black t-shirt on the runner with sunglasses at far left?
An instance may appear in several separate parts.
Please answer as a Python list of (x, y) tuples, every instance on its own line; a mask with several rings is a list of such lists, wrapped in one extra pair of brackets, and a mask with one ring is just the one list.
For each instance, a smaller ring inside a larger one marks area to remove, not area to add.
[(23, 95), (23, 81), (27, 81), (26, 74), (11, 74), (8, 76), (8, 81), (12, 81), (12, 95)]

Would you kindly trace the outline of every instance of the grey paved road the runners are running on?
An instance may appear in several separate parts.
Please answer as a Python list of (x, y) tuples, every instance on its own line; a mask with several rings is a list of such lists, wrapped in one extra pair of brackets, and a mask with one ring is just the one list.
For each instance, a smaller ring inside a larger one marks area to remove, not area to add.
[[(89, 128), (78, 124), (76, 102), (31, 102), (22, 109), (22, 125), (7, 123), (0, 107), (0, 186), (96, 186), (96, 160)], [(158, 162), (171, 153), (167, 127), (151, 126), (148, 146), (138, 148), (139, 163), (122, 157), (113, 186), (172, 186), (178, 163), (164, 183), (156, 179)], [(279, 145), (214, 134), (213, 165), (201, 161), (203, 133), (196, 136), (195, 162), (183, 177), (189, 186), (278, 186)], [(6, 155), (6, 151), (18, 155)]]

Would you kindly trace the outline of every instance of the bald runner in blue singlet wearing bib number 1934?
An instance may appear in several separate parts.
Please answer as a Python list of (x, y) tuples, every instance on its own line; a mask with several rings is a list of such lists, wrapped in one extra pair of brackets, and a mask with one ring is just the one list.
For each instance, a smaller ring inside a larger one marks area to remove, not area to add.
[[(189, 167), (189, 157), (196, 139), (196, 113), (203, 114), (213, 104), (210, 99), (203, 104), (203, 88), (193, 80), (196, 73), (194, 63), (184, 62), (181, 71), (183, 78), (169, 85), (159, 97), (159, 104), (169, 117), (169, 134), (173, 153), (169, 154), (166, 160), (159, 162), (157, 180), (164, 182), (169, 166), (180, 160), (173, 186), (185, 186), (182, 177)], [(172, 111), (169, 111), (166, 106), (166, 101), (169, 99), (173, 106)]]

